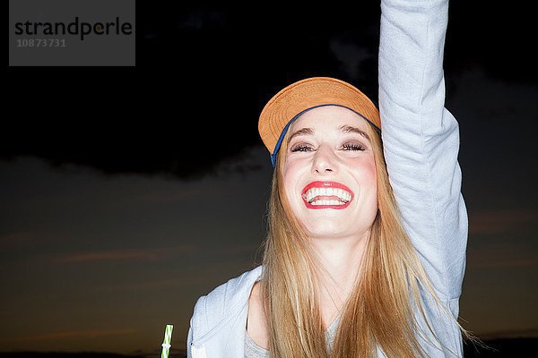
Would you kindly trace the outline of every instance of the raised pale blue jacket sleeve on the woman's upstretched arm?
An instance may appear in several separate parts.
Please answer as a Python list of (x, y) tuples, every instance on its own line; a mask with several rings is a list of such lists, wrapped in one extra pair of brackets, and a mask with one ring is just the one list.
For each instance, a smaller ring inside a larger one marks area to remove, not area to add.
[(405, 230), (440, 298), (459, 297), (468, 219), (459, 129), (445, 108), (447, 0), (382, 0), (379, 112)]

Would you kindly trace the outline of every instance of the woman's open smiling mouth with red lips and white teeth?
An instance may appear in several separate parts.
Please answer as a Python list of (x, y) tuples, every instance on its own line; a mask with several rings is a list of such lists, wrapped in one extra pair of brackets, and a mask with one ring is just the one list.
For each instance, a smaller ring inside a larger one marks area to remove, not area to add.
[(302, 199), (308, 209), (345, 209), (353, 200), (353, 192), (343, 183), (312, 182), (303, 189)]

